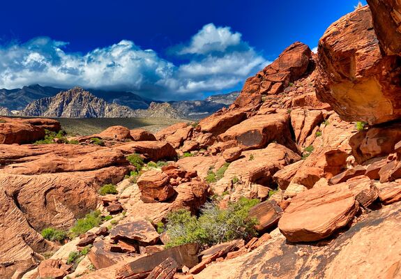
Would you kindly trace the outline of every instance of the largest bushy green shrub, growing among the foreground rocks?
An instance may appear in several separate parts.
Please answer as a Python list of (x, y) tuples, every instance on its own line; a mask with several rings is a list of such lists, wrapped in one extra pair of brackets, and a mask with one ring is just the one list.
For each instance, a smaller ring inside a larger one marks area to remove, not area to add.
[(227, 209), (220, 209), (213, 203), (206, 203), (199, 218), (190, 211), (180, 209), (167, 216), (166, 232), (169, 236), (167, 247), (185, 243), (199, 243), (212, 246), (233, 239), (248, 239), (256, 235), (257, 220), (249, 218), (249, 210), (259, 203), (258, 199), (242, 197), (238, 202), (229, 203)]

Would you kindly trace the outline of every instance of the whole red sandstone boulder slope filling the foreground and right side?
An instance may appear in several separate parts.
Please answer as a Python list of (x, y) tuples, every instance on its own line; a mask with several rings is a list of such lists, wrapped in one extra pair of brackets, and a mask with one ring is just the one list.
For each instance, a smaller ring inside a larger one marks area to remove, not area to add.
[[(400, 278), (401, 8), (368, 3), (199, 123), (31, 144), (59, 123), (1, 118), (0, 278)], [(261, 201), (257, 236), (165, 246), (169, 212), (241, 197)], [(40, 234), (95, 209), (112, 220), (64, 243)]]

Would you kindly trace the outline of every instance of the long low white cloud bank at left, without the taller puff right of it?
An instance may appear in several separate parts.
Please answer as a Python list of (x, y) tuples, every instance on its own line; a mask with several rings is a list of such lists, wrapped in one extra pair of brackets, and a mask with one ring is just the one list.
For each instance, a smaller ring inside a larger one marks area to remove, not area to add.
[(1, 86), (39, 83), (140, 91), (174, 71), (172, 63), (129, 40), (85, 55), (64, 52), (65, 45), (50, 38), (35, 38), (22, 45), (1, 47)]

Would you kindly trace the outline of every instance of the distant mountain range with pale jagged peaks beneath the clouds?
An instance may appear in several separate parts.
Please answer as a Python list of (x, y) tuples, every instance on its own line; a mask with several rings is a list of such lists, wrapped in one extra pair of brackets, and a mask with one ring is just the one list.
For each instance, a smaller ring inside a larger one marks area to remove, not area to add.
[(0, 115), (47, 117), (169, 117), (199, 119), (234, 102), (239, 92), (164, 103), (125, 91), (59, 89), (39, 84), (0, 89)]

